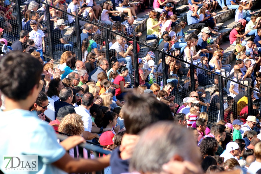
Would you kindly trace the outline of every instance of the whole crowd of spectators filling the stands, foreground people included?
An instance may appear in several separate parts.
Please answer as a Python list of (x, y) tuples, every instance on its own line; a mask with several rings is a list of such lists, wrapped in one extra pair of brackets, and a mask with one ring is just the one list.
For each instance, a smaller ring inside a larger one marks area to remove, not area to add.
[[(3, 4), (11, 8), (13, 4), (7, 1)], [(49, 25), (45, 4), (38, 8), (40, 4), (35, 1), (22, 2), (27, 10), (20, 33), (11, 32), (9, 24), (17, 19), (7, 10), (0, 19), (0, 27), (5, 27), (5, 40), (0, 42), (12, 42), (9, 53), (0, 59), (0, 130), (6, 132), (0, 143), (1, 154), (30, 155), (34, 151), (43, 173), (101, 169), (107, 174), (261, 173), (261, 29), (260, 19), (250, 11), (252, 0), (245, 2), (237, 5), (237, 1), (226, 1), (226, 7), (223, 0), (192, 0), (188, 25), (201, 33), (185, 42), (186, 23), (177, 20), (175, 1), (155, 0), (156, 12), (149, 14), (147, 34), (162, 38), (158, 49), (176, 58), (148, 51), (135, 59), (133, 41), (128, 37), (139, 40), (142, 33), (133, 30), (133, 23), (142, 19), (128, 0), (106, 1), (103, 8), (92, 0), (46, 0), (44, 3), (71, 14), (49, 9), (55, 36), (52, 44), (55, 51), (63, 52), (57, 68), (53, 60), (46, 62), (43, 57)], [(141, 4), (143, 11), (150, 9), (148, 1)], [(216, 13), (211, 13), (212, 9), (217, 11), (218, 4), (223, 10), (237, 9), (235, 22), (239, 23), (229, 35), (238, 53), (233, 67), (222, 64), (223, 48), (211, 43), (211, 35), (221, 35), (213, 18)], [(161, 13), (158, 19), (157, 12)], [(118, 18), (121, 13), (128, 13), (124, 21)], [(80, 20), (83, 59), (77, 60), (75, 43), (64, 37), (66, 26), (75, 26), (76, 15), (94, 23), (101, 19), (125, 37), (110, 34), (109, 52), (105, 52), (102, 28)], [(255, 35), (253, 41), (244, 41), (250, 35)], [(194, 74), (190, 65), (178, 58), (197, 65)], [(135, 61), (137, 77), (133, 75)], [(221, 81), (214, 72), (230, 80)], [(139, 86), (135, 87), (133, 80), (139, 81)], [(251, 96), (243, 84), (255, 89)], [(10, 131), (11, 122), (21, 130), (16, 135)], [(55, 131), (72, 137), (59, 144)], [(23, 141), (25, 135), (28, 142)], [(21, 147), (30, 148), (13, 148), (17, 141)], [(84, 159), (76, 160), (73, 157), (79, 157), (79, 152), (73, 147), (84, 141), (112, 153), (94, 158), (84, 149)]]

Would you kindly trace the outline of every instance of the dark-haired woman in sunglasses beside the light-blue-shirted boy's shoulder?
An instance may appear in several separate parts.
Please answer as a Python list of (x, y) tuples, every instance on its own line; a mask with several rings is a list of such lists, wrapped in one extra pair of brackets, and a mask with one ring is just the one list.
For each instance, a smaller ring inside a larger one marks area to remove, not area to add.
[(50, 122), (51, 120), (44, 115), (44, 111), (47, 110), (48, 105), (49, 101), (47, 95), (43, 91), (40, 91), (34, 105), (30, 108), (30, 111), (35, 110), (40, 119)]

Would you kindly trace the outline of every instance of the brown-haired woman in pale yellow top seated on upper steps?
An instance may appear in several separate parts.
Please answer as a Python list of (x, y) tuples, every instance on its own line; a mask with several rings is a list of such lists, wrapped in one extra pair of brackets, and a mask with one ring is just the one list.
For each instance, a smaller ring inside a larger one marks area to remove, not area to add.
[(157, 20), (157, 13), (151, 11), (147, 20), (147, 35), (159, 35), (161, 21)]

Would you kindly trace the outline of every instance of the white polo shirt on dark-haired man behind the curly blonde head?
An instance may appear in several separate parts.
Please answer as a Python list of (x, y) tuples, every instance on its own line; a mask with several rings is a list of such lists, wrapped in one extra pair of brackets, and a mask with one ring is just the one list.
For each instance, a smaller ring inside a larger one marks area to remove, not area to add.
[(82, 120), (84, 121), (84, 131), (91, 132), (93, 124), (92, 124), (92, 118), (90, 116), (90, 112), (81, 105), (74, 108), (74, 110), (78, 115), (82, 116)]

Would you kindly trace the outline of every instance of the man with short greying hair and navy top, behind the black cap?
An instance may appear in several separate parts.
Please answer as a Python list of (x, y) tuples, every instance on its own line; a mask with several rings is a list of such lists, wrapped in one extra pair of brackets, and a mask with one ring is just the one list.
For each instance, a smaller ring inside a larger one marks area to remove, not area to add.
[(54, 102), (55, 118), (57, 117), (57, 113), (61, 107), (72, 105), (73, 96), (73, 89), (71, 87), (65, 87), (61, 89), (59, 93), (60, 99)]

